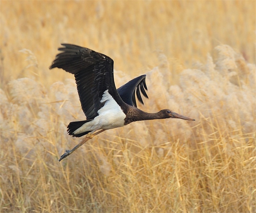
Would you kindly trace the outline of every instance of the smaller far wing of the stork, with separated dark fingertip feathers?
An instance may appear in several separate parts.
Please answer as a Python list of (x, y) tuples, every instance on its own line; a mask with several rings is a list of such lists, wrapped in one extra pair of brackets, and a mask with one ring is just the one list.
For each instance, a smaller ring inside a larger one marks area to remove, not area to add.
[(130, 80), (129, 82), (124, 84), (122, 87), (119, 87), (117, 89), (117, 92), (119, 93), (120, 97), (125, 103), (131, 106), (137, 107), (136, 99), (135, 99), (135, 90), (136, 90), (136, 95), (139, 102), (144, 104), (142, 97), (140, 95), (140, 91), (146, 98), (148, 98), (148, 95), (145, 91), (145, 89), (148, 90), (145, 79), (146, 79), (146, 75), (141, 75), (135, 79)]

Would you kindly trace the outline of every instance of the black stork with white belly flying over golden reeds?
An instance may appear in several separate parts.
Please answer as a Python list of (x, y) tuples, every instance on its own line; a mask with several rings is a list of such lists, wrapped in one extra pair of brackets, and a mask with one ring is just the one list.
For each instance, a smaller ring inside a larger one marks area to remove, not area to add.
[[(156, 113), (139, 110), (136, 105), (135, 90), (138, 100), (143, 104), (140, 91), (148, 98), (145, 91), (147, 90), (146, 75), (141, 75), (116, 89), (114, 61), (110, 57), (73, 44), (61, 45), (63, 47), (58, 50), (62, 52), (56, 56), (50, 69), (58, 67), (75, 75), (77, 91), (86, 120), (70, 122), (67, 131), (73, 137), (83, 135), (86, 137), (72, 150), (66, 150), (66, 153), (60, 156), (59, 161), (72, 154), (95, 135), (134, 121), (164, 118), (194, 121), (192, 118), (169, 109)], [(97, 130), (100, 131), (96, 132)]]

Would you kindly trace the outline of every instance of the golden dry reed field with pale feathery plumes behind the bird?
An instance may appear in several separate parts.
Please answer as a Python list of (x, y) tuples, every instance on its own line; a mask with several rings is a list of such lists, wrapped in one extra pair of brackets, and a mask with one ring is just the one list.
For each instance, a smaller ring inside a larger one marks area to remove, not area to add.
[[(256, 212), (255, 1), (1, 1), (0, 212)], [(110, 56), (141, 110), (196, 119), (81, 138), (60, 43)]]

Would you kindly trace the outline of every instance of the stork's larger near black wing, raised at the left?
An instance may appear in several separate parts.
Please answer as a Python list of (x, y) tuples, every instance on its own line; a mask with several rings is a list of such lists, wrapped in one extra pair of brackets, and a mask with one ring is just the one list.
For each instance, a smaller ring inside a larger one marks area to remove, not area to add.
[(115, 97), (120, 105), (122, 99), (117, 93), (114, 82), (114, 61), (101, 53), (73, 44), (61, 44), (60, 52), (50, 69), (61, 68), (75, 75), (76, 86), (82, 110), (86, 119), (98, 116), (98, 110), (104, 106), (101, 103), (104, 91)]

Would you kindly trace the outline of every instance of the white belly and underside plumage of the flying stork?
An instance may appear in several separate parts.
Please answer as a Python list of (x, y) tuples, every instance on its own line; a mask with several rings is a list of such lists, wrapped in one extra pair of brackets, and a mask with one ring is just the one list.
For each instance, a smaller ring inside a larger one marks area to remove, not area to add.
[(98, 110), (98, 116), (92, 121), (80, 126), (74, 134), (79, 134), (87, 131), (95, 132), (99, 129), (114, 129), (124, 126), (124, 114), (121, 107), (116, 103), (114, 98), (108, 93), (108, 89), (103, 93), (101, 103), (105, 102), (104, 106)]

